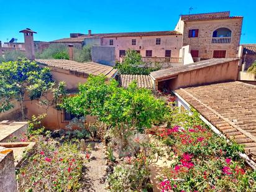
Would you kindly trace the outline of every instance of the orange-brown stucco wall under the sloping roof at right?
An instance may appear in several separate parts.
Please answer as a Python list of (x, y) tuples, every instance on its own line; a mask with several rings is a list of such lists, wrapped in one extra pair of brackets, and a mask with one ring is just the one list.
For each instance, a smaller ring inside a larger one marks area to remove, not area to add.
[(219, 65), (208, 66), (198, 70), (180, 73), (176, 78), (158, 82), (158, 88), (168, 88), (171, 90), (208, 83), (237, 80), (238, 60), (222, 63)]

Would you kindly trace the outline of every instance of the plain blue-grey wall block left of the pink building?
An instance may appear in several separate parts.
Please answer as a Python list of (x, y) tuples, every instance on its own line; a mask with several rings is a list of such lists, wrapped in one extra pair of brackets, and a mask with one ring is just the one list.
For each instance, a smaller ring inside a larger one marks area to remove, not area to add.
[(93, 62), (103, 65), (115, 66), (116, 55), (114, 46), (93, 46), (91, 48), (91, 58)]

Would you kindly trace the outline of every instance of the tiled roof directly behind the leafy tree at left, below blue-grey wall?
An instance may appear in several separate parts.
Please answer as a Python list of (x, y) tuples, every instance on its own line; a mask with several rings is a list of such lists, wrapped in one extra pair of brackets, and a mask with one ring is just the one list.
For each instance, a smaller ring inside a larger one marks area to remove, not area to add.
[(99, 63), (87, 62), (78, 63), (71, 60), (35, 60), (39, 64), (47, 65), (50, 67), (61, 68), (63, 70), (68, 70), (73, 73), (80, 73), (83, 75), (105, 75), (108, 78), (113, 77), (117, 70), (113, 69), (112, 66), (101, 65)]

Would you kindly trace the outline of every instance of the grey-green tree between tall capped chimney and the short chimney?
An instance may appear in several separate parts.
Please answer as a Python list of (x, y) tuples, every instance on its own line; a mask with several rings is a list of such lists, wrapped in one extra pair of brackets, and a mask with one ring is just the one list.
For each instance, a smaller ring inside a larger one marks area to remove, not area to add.
[(50, 44), (48, 48), (42, 53), (36, 53), (36, 58), (55, 58), (55, 59), (69, 59), (68, 48), (65, 44), (54, 43)]

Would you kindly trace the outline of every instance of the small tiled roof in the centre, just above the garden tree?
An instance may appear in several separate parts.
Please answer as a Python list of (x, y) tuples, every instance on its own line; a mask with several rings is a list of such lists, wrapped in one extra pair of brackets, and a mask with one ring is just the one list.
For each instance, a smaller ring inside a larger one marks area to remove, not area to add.
[(152, 78), (149, 75), (120, 75), (119, 77), (119, 83), (124, 88), (134, 80), (139, 88), (153, 89)]

